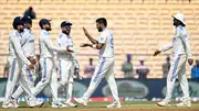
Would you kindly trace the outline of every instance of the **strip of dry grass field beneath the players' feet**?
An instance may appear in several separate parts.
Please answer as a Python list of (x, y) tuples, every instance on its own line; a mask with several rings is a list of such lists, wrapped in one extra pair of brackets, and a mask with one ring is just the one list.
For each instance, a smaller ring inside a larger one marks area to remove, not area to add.
[(156, 102), (122, 102), (121, 109), (106, 109), (109, 102), (88, 102), (88, 107), (53, 109), (46, 102), (42, 108), (28, 108), (24, 102), (18, 109), (0, 109), (0, 111), (199, 111), (199, 102), (192, 102), (191, 108), (158, 107)]

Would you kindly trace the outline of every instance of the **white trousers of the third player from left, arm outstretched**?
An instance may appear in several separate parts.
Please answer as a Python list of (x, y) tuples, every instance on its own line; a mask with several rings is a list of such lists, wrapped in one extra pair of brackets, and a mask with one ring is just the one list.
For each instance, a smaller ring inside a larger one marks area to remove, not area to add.
[(57, 100), (57, 76), (53, 58), (40, 58), (42, 78), (35, 86), (33, 95), (36, 96), (48, 85), (53, 97), (53, 101)]

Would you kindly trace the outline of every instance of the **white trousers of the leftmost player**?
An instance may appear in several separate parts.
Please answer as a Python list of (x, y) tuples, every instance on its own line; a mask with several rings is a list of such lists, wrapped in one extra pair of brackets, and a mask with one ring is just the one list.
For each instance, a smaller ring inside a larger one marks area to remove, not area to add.
[(28, 70), (28, 66), (22, 65), (22, 62), (17, 58), (8, 58), (8, 62), (9, 77), (7, 80), (6, 100), (3, 101), (3, 103), (6, 104), (10, 101), (17, 81), (19, 81), (20, 86), (29, 96), (33, 97), (33, 95), (31, 93), (30, 80), (24, 73), (25, 70)]

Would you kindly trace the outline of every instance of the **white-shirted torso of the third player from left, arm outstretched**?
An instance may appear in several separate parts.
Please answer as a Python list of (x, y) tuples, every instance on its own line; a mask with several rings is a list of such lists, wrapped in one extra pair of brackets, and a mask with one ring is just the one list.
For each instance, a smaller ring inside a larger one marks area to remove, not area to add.
[(39, 48), (40, 48), (40, 57), (46, 58), (46, 57), (53, 57), (53, 51), (48, 47), (46, 44), (49, 44), (51, 41), (50, 33), (45, 30), (42, 30), (40, 33), (39, 38)]

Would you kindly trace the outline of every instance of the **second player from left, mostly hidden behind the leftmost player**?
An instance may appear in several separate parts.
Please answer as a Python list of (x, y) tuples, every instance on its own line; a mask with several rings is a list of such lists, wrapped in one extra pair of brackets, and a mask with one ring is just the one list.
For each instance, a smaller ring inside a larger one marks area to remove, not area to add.
[[(35, 56), (34, 35), (31, 33), (32, 20), (29, 16), (23, 16), (22, 21), (24, 24), (24, 31), (22, 33), (22, 38), (21, 38), (23, 53), (28, 59), (30, 59), (31, 62), (33, 62), (33, 64), (35, 64), (36, 60), (34, 58)], [(23, 65), (23, 67), (25, 67), (25, 65)], [(30, 89), (32, 90), (34, 88), (33, 71), (30, 69), (25, 69), (22, 73), (28, 81)], [(12, 95), (12, 99), (13, 100), (18, 99), (23, 93), (23, 91), (24, 91), (23, 88), (19, 86), (15, 92)], [(25, 96), (27, 103), (30, 107), (33, 107), (34, 102), (36, 102), (35, 98), (32, 96)]]

